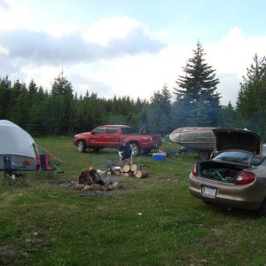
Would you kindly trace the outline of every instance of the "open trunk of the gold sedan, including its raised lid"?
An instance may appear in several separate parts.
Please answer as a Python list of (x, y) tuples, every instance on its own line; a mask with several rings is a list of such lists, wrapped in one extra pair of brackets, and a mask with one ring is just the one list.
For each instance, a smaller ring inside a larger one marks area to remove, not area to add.
[[(215, 152), (223, 156), (218, 159), (218, 155), (214, 159), (198, 162), (197, 173), (200, 177), (232, 183), (240, 172), (252, 167), (251, 161), (255, 158), (259, 160), (258, 158), (262, 156), (262, 137), (243, 129), (214, 129), (213, 131)], [(239, 153), (239, 155), (227, 155), (227, 157), (224, 153)]]

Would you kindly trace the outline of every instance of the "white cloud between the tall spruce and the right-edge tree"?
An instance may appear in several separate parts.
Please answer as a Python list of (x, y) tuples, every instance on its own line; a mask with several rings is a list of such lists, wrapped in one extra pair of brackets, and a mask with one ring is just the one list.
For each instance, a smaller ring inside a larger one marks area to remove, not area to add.
[(223, 105), (229, 101), (235, 105), (246, 68), (253, 63), (255, 53), (265, 56), (265, 46), (266, 35), (245, 37), (239, 27), (232, 28), (220, 42), (204, 45), (207, 63), (216, 69), (220, 79), (218, 91)]

